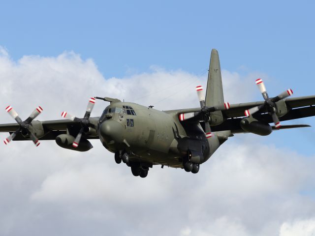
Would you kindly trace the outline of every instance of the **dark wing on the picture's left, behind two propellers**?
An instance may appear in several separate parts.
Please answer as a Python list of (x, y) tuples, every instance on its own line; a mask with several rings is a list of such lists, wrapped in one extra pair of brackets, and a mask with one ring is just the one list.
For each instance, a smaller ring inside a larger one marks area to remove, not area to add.
[[(90, 121), (97, 125), (98, 117), (90, 118)], [(60, 134), (66, 134), (67, 132), (70, 133), (73, 136), (76, 136), (81, 128), (80, 124), (78, 122), (74, 122), (69, 119), (58, 119), (58, 120), (45, 120), (45, 121), (38, 121), (34, 120), (32, 121), (36, 122), (36, 125), (39, 126), (42, 125), (42, 129), (44, 131), (44, 135), (39, 140), (55, 140), (56, 137)], [(34, 126), (34, 125), (33, 125)], [(19, 128), (18, 123), (10, 123), (10, 124), (0, 124), (0, 132), (9, 132), (10, 134), (16, 131)], [(98, 136), (89, 136), (86, 134), (82, 135), (85, 139), (98, 139)], [(24, 141), (29, 140), (28, 138), (25, 138), (21, 132), (19, 132), (15, 138), (14, 141)]]

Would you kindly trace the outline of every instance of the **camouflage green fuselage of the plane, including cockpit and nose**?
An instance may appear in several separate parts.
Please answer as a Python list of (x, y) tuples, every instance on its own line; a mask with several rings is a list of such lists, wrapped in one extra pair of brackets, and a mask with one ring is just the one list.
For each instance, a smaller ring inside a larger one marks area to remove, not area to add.
[(206, 138), (199, 122), (183, 124), (176, 113), (126, 102), (106, 107), (98, 122), (98, 135), (111, 152), (126, 150), (131, 160), (179, 168), (189, 150), (201, 164), (220, 146), (216, 134)]

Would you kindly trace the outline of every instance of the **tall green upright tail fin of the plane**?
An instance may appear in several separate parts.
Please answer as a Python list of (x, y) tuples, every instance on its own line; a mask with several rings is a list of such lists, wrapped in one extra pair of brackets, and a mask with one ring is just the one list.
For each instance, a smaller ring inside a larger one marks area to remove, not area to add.
[(206, 91), (206, 106), (212, 107), (218, 105), (220, 106), (223, 104), (224, 97), (219, 54), (216, 49), (212, 49)]

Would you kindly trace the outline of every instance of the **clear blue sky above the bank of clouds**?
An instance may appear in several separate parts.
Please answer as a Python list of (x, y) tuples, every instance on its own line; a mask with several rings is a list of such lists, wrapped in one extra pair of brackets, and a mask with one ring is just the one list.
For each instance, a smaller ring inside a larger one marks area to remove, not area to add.
[(73, 50), (93, 58), (105, 77), (152, 64), (197, 73), (217, 48), (230, 71), (245, 66), (283, 81), (313, 78), (312, 1), (13, 0), (0, 6), (1, 45), (14, 59)]

